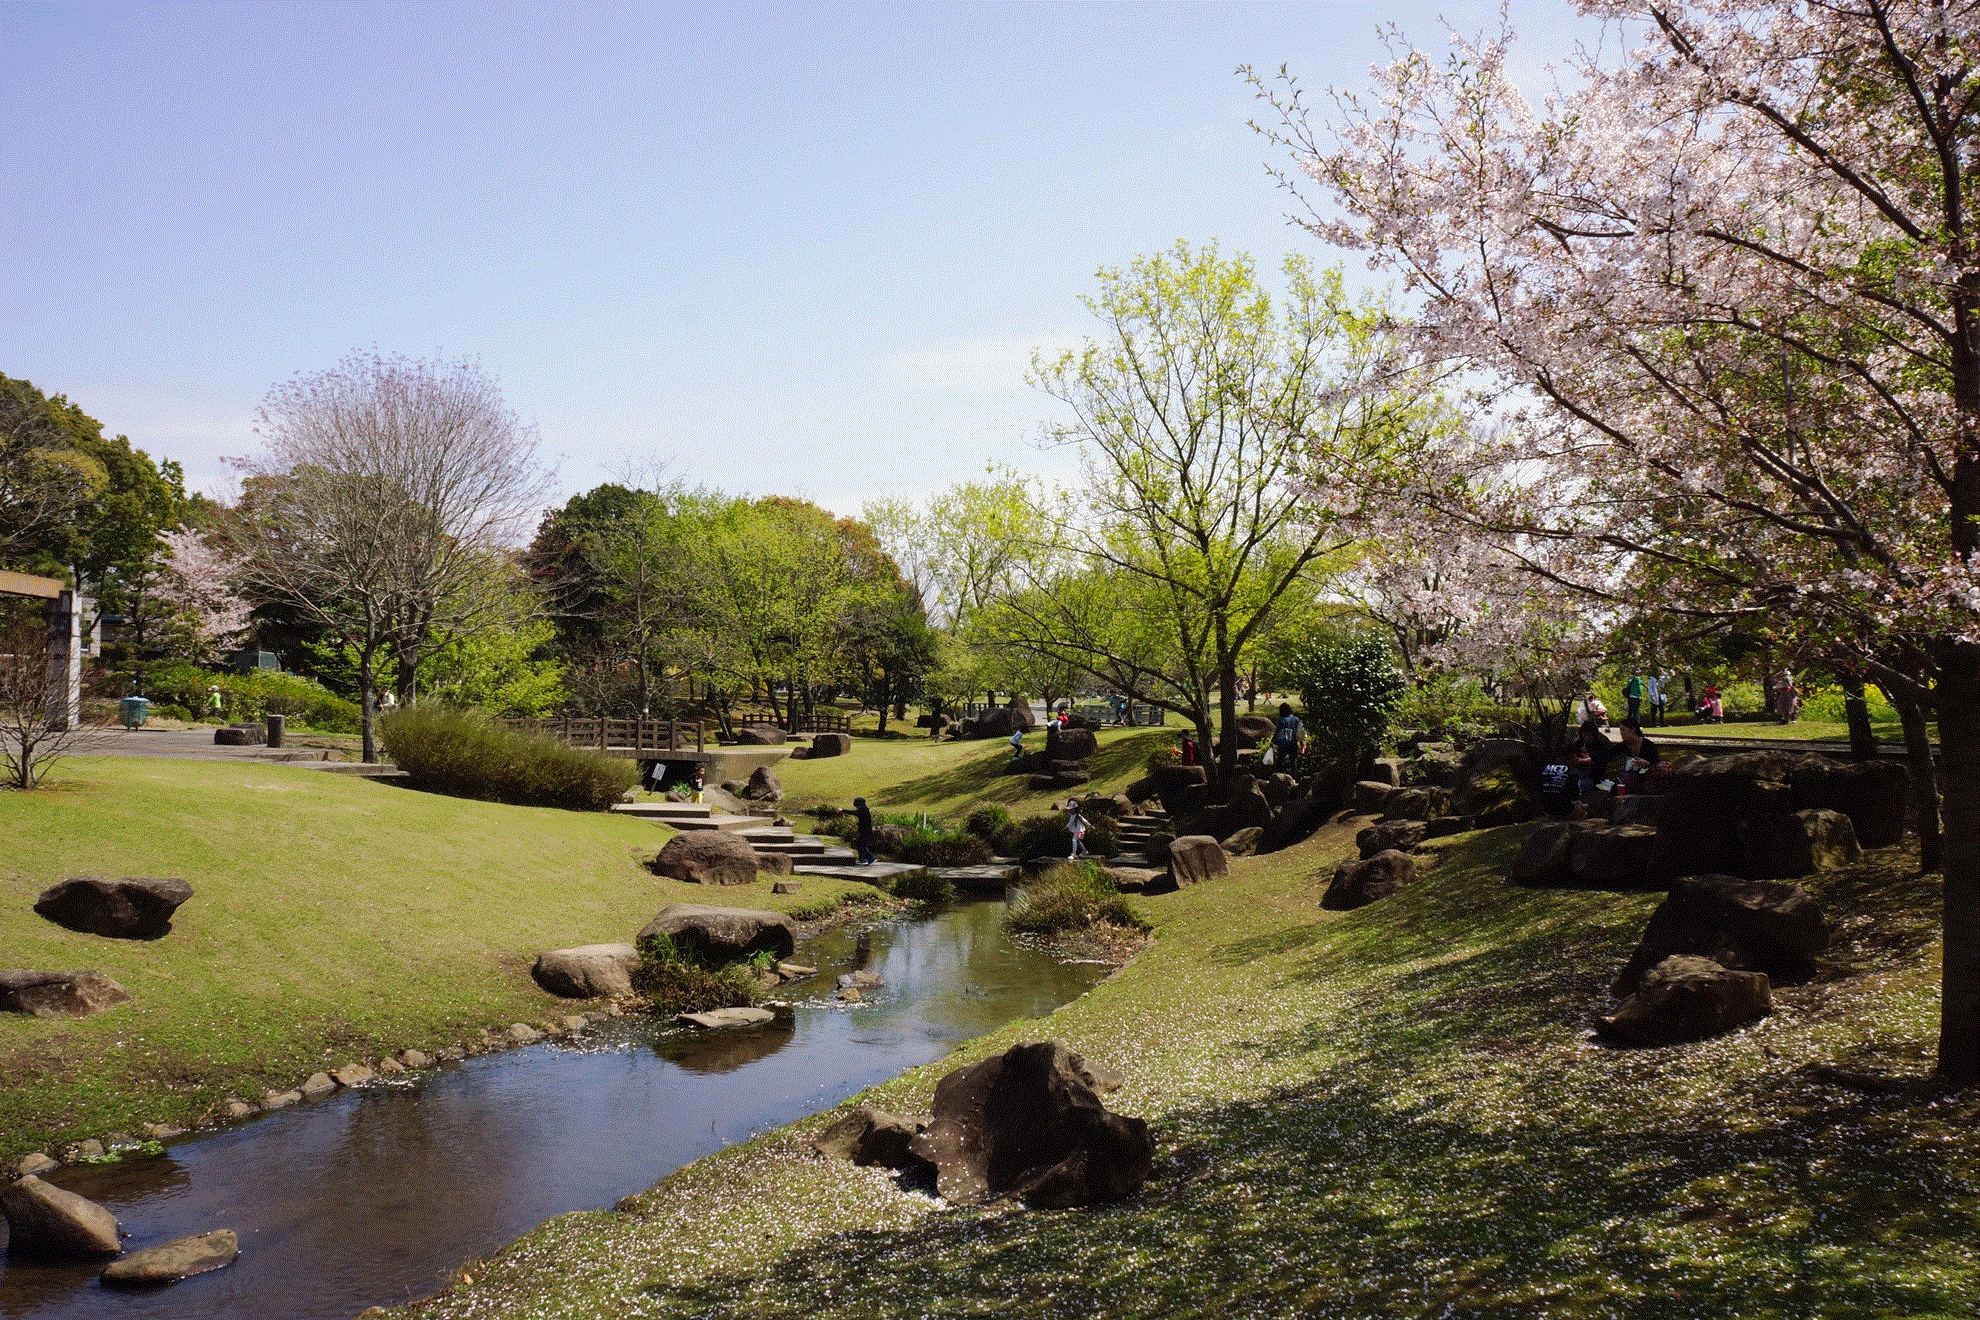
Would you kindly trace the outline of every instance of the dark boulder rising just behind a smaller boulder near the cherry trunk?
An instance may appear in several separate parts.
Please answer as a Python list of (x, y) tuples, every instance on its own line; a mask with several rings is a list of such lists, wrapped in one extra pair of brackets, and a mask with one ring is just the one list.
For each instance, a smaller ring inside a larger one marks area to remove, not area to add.
[(1614, 993), (1618, 999), (1635, 993), (1649, 970), (1673, 956), (1711, 958), (1774, 982), (1806, 980), (1833, 930), (1814, 895), (1794, 885), (1687, 875), (1649, 914)]

